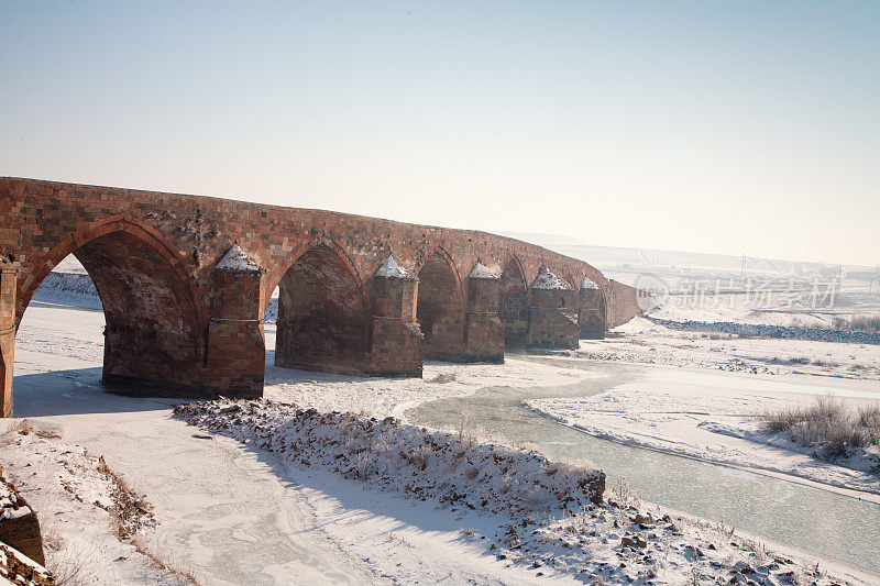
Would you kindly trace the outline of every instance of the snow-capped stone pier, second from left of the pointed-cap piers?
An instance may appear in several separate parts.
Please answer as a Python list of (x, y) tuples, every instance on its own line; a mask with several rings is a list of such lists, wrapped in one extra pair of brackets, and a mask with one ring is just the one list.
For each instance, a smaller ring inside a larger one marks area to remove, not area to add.
[(370, 281), (371, 376), (421, 376), (425, 336), (416, 321), (417, 298), (418, 281), (389, 256)]

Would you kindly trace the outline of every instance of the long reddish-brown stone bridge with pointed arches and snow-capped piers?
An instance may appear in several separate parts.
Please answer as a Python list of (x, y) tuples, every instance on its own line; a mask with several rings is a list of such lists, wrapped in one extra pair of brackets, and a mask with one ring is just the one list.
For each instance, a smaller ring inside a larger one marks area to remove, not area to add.
[(152, 395), (262, 395), (276, 287), (275, 364), (364, 376), (576, 347), (638, 313), (636, 289), (588, 264), (485, 232), (3, 177), (7, 417), (16, 328), (68, 254), (103, 303), (103, 383)]

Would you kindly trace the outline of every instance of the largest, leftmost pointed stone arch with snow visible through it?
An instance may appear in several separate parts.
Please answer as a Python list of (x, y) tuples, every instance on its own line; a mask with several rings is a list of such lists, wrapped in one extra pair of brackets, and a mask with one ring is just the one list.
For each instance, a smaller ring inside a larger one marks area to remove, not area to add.
[(68, 254), (86, 268), (103, 306), (103, 383), (198, 395), (207, 353), (206, 310), (180, 253), (134, 218), (89, 223), (46, 253), (22, 283), (16, 327), (40, 284)]

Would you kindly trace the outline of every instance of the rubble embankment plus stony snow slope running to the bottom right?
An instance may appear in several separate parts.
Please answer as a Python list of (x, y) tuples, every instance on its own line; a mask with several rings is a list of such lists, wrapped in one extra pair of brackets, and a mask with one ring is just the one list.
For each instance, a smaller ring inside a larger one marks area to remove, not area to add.
[[(585, 583), (833, 584), (718, 528), (637, 506), (625, 489), (601, 501), (597, 471), (535, 453), (402, 424), (319, 413), (271, 400), (217, 400), (175, 409), (194, 425), (268, 451), (293, 466), (331, 471), (459, 512), (462, 539), (534, 576)], [(391, 538), (407, 546), (406, 538)]]

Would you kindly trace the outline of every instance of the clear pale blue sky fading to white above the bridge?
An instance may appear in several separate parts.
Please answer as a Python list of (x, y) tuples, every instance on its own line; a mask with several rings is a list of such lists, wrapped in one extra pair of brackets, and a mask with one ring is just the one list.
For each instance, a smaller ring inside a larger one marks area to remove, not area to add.
[(880, 264), (880, 2), (0, 3), (0, 175)]

